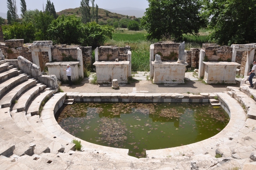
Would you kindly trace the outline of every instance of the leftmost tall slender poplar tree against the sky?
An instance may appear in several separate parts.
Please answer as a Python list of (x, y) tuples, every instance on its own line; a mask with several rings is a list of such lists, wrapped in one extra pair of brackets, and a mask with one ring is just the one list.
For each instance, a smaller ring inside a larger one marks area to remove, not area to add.
[(9, 24), (17, 22), (18, 15), (17, 15), (17, 6), (16, 0), (7, 0), (7, 20)]

